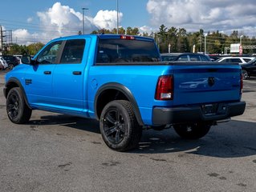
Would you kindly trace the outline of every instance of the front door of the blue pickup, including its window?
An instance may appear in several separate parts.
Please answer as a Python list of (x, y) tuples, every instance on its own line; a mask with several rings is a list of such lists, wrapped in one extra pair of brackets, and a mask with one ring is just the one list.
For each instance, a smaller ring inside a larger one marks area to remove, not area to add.
[(58, 62), (62, 41), (51, 42), (35, 58), (35, 64), (26, 70), (26, 96), (32, 106), (51, 106), (52, 75)]

